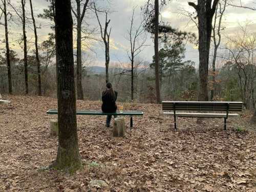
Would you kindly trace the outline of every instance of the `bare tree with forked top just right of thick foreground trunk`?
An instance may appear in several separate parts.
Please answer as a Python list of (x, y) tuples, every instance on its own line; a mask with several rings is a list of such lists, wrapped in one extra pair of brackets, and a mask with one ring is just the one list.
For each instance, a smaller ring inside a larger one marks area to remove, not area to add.
[[(75, 0), (76, 2), (76, 11), (72, 8), (72, 12), (76, 17), (77, 22), (77, 46), (76, 46), (76, 85), (77, 85), (77, 99), (83, 99), (83, 91), (82, 91), (82, 61), (81, 61), (81, 26), (82, 20), (84, 18), (84, 14), (86, 13), (89, 0)], [(82, 5), (83, 4), (83, 5)], [(82, 5), (82, 10), (81, 10)], [(81, 12), (82, 11), (82, 12)]]

